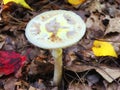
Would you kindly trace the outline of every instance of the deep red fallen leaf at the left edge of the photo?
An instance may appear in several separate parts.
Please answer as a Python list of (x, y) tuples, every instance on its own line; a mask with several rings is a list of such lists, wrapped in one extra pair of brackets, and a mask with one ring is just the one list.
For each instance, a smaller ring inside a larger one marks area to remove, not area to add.
[(25, 56), (14, 51), (0, 51), (0, 74), (9, 75), (17, 72), (25, 60)]

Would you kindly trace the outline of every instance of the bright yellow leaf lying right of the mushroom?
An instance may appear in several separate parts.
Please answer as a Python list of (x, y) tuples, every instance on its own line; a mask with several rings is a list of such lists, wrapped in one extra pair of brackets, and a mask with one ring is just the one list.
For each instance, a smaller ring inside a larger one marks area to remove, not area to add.
[(95, 40), (93, 43), (92, 50), (95, 56), (117, 57), (113, 46), (109, 42)]

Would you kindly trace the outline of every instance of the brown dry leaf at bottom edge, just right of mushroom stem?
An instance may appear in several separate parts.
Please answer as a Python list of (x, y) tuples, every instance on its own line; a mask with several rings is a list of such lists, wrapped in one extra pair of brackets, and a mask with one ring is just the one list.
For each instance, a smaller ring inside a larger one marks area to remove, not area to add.
[(67, 90), (92, 90), (88, 85), (82, 85), (79, 83), (70, 84)]

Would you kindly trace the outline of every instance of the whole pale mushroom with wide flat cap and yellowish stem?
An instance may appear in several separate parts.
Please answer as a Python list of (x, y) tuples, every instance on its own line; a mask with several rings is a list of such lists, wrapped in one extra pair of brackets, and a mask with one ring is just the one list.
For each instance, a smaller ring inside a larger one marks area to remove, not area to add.
[(28, 41), (40, 48), (51, 50), (54, 57), (54, 85), (62, 78), (62, 49), (77, 43), (85, 34), (86, 25), (72, 11), (51, 10), (34, 17), (26, 26)]

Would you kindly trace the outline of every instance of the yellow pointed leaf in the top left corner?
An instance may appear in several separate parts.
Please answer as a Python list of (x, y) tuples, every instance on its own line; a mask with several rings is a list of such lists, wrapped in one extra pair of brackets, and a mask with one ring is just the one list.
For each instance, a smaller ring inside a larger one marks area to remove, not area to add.
[(20, 4), (22, 5), (23, 7), (27, 8), (27, 9), (30, 9), (30, 10), (33, 10), (26, 2), (25, 0), (3, 0), (3, 4), (7, 4), (9, 2), (15, 2), (16, 4)]

